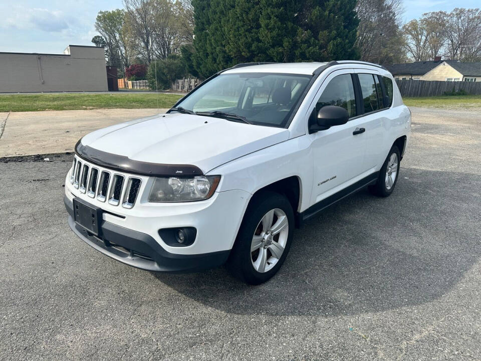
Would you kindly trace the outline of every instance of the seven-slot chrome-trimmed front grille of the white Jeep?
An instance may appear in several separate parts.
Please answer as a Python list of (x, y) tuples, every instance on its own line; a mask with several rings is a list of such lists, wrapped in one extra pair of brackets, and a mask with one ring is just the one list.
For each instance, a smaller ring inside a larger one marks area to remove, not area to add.
[[(132, 208), (137, 200), (142, 184), (141, 176), (114, 173), (110, 169), (100, 168), (94, 164), (75, 157), (72, 163), (70, 183), (80, 193), (87, 194), (99, 202), (112, 206), (122, 205), (123, 208)], [(73, 192), (74, 196), (76, 195)]]

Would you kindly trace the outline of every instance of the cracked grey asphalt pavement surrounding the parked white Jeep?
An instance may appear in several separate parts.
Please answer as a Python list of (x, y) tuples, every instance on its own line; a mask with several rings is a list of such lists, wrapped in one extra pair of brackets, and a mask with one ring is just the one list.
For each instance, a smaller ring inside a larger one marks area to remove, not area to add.
[(116, 262), (67, 225), (72, 155), (0, 161), (0, 359), (481, 359), (481, 112), (412, 111), (393, 195), (311, 219), (256, 287)]

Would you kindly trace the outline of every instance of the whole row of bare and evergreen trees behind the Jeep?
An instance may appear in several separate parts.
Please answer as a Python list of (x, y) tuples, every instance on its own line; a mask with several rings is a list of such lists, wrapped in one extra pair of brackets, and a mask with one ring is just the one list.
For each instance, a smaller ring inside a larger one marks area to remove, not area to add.
[(124, 0), (99, 12), (92, 42), (121, 76), (167, 88), (243, 62), (436, 55), (481, 60), (481, 11), (454, 9), (402, 24), (402, 0)]

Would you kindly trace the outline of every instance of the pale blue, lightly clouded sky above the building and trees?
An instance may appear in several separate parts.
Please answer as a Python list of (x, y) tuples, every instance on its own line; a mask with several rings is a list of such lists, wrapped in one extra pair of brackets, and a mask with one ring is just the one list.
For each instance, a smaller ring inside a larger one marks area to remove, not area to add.
[[(403, 20), (431, 11), (480, 7), (479, 0), (404, 0)], [(0, 52), (61, 54), (69, 45), (93, 45), (99, 11), (122, 0), (0, 0)]]

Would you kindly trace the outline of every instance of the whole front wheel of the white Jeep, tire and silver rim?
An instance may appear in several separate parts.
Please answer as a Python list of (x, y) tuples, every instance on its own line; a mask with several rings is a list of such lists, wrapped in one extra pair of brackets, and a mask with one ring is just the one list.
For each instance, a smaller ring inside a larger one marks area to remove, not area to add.
[[(267, 227), (269, 223), (271, 227)], [(275, 192), (254, 196), (227, 260), (227, 269), (246, 283), (266, 282), (284, 263), (293, 231), (294, 212), (285, 196)]]

